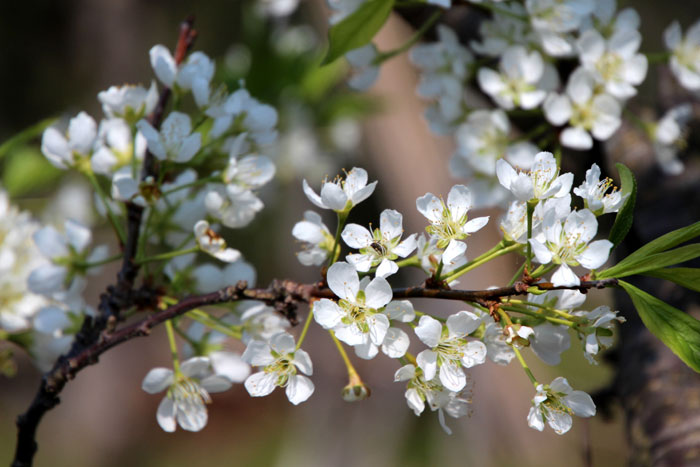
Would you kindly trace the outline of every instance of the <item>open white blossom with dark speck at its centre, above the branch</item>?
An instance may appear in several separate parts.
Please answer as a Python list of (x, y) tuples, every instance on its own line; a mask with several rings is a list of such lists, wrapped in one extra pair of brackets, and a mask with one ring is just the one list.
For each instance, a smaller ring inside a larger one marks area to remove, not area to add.
[(346, 257), (360, 272), (377, 268), (378, 277), (388, 277), (399, 267), (394, 262), (398, 257), (405, 258), (416, 249), (416, 235), (411, 234), (401, 241), (403, 216), (393, 209), (385, 209), (379, 216), (379, 228), (369, 231), (358, 224), (348, 224), (341, 234), (350, 248), (359, 253)]

